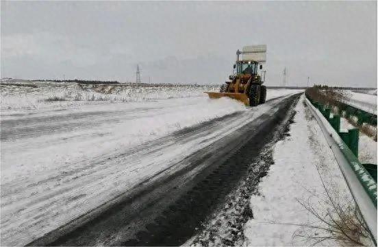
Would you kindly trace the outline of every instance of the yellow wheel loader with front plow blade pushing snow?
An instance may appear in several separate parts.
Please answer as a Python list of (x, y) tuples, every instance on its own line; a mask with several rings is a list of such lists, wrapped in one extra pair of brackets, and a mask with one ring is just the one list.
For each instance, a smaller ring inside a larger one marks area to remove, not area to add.
[[(240, 54), (242, 54), (241, 60)], [(246, 106), (264, 104), (266, 86), (262, 84), (266, 71), (262, 71), (262, 62), (266, 62), (266, 45), (243, 47), (242, 51), (236, 51), (234, 74), (229, 76), (229, 82), (220, 86), (219, 93), (205, 93), (212, 99), (231, 97), (243, 102)]]

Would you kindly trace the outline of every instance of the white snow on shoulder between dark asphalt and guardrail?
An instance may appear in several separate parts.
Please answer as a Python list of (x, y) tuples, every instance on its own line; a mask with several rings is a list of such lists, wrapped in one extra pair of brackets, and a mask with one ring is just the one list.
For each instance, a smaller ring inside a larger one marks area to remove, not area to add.
[[(244, 228), (244, 246), (308, 246), (296, 235), (306, 235), (306, 228), (316, 218), (305, 210), (299, 200), (324, 193), (319, 174), (328, 187), (337, 187), (347, 198), (351, 194), (338, 164), (315, 119), (303, 106), (303, 97), (290, 126), (290, 137), (275, 146), (275, 164), (259, 185), (258, 195), (251, 197), (253, 219)], [(295, 225), (297, 224), (297, 225)], [(337, 242), (321, 243), (340, 245)], [(320, 245), (321, 245), (320, 244)]]

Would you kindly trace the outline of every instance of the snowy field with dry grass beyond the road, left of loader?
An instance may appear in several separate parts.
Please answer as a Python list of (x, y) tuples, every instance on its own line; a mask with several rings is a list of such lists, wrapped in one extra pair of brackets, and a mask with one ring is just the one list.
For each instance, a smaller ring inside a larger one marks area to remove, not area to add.
[(142, 102), (155, 99), (203, 96), (218, 86), (136, 84), (90, 85), (75, 82), (2, 82), (1, 110), (40, 110), (84, 104)]

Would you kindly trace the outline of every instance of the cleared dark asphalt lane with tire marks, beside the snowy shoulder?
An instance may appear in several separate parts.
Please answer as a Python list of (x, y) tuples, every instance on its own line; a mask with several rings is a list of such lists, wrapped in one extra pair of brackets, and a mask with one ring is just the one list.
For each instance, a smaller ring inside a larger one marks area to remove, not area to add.
[(184, 244), (234, 188), (298, 98), (299, 94), (270, 99), (247, 113), (212, 119), (136, 148), (134, 156), (153, 158), (151, 154), (173, 152), (179, 143), (195, 140), (201, 145), (184, 158), (166, 161), (166, 169), (111, 202), (29, 245)]

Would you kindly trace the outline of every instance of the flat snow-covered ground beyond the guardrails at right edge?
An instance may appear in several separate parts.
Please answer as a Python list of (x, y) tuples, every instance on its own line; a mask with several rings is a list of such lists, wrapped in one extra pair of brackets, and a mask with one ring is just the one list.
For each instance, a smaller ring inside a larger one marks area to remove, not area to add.
[(377, 115), (377, 95), (347, 91), (347, 97), (345, 103)]

